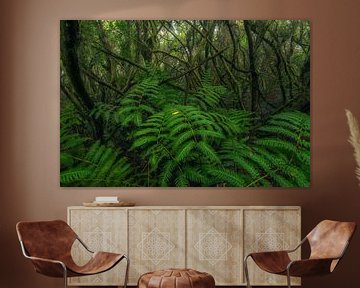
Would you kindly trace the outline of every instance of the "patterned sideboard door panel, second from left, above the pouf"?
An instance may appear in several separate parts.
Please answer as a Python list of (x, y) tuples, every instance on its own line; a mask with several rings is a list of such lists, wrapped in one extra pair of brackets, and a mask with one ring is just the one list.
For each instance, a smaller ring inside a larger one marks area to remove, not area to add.
[(185, 210), (129, 210), (129, 283), (148, 271), (185, 267)]

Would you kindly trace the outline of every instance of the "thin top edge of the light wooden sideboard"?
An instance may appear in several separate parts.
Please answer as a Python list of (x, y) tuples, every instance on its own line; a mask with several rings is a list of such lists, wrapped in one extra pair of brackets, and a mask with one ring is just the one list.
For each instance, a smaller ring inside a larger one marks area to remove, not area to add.
[(132, 206), (132, 207), (85, 207), (69, 206), (68, 209), (131, 209), (131, 210), (188, 210), (188, 209), (221, 209), (221, 210), (238, 210), (238, 209), (280, 209), (280, 210), (301, 210), (301, 206)]

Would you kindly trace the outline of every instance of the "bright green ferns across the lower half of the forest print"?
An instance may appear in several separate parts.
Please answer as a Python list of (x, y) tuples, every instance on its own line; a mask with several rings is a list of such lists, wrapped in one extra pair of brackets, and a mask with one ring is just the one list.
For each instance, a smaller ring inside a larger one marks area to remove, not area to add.
[[(195, 102), (160, 110), (153, 104), (162, 97), (156, 81), (139, 82), (120, 108), (98, 104), (92, 112), (96, 119), (118, 117), (118, 125), (131, 125), (123, 137), (128, 149), (99, 141), (88, 147), (78, 134), (61, 136), (63, 186), (309, 186), (308, 115), (278, 113), (254, 130), (256, 118), (243, 110)], [(139, 109), (142, 99), (151, 99), (148, 108)], [(128, 121), (137, 114), (140, 121)]]

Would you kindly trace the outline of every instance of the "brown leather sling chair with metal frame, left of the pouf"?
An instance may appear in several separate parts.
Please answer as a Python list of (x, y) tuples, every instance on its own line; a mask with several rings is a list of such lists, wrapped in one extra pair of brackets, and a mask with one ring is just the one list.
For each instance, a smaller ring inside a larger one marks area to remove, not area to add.
[[(62, 220), (19, 222), (16, 231), (24, 256), (31, 260), (35, 271), (50, 277), (87, 276), (105, 272), (113, 268), (122, 259), (126, 259), (124, 288), (127, 285), (129, 259), (125, 254), (91, 251)], [(78, 240), (89, 253), (90, 260), (78, 266), (71, 257), (71, 247)]]

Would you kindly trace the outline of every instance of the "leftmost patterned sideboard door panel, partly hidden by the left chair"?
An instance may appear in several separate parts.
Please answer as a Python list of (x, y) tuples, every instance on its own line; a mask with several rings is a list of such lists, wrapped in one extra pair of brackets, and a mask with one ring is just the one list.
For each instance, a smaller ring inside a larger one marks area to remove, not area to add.
[[(91, 250), (127, 252), (126, 209), (69, 209), (68, 222)], [(84, 264), (89, 259), (89, 252), (78, 241), (73, 246), (72, 255), (79, 264)], [(69, 278), (68, 283), (86, 286), (122, 285), (125, 267), (125, 261), (121, 261), (108, 272)]]

